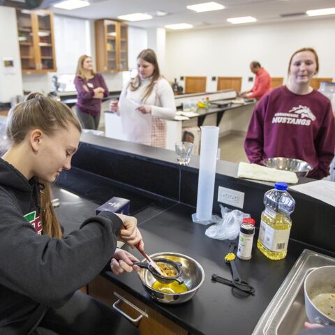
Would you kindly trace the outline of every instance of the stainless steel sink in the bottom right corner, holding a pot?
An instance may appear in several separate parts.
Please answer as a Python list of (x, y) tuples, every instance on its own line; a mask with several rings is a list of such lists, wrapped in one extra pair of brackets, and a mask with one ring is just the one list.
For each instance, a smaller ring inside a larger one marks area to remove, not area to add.
[(252, 335), (294, 335), (307, 321), (304, 279), (316, 267), (335, 265), (335, 258), (305, 249), (258, 321)]

